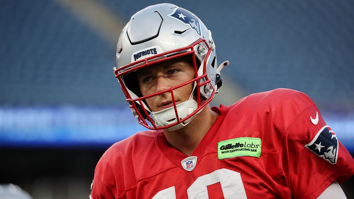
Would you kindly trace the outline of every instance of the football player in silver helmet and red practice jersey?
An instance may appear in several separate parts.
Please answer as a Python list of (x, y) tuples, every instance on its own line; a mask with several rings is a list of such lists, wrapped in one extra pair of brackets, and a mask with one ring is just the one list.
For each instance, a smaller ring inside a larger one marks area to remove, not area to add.
[(99, 160), (91, 198), (346, 198), (354, 160), (304, 93), (210, 107), (222, 86), (210, 30), (172, 4), (122, 30), (114, 73), (139, 124)]

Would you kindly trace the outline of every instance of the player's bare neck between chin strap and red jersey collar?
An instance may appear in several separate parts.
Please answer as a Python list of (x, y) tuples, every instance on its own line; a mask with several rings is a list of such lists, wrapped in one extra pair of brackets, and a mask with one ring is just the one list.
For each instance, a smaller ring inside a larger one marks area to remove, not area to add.
[(213, 112), (207, 104), (204, 109), (185, 127), (176, 131), (164, 130), (169, 144), (190, 156), (202, 138), (209, 131), (219, 114)]

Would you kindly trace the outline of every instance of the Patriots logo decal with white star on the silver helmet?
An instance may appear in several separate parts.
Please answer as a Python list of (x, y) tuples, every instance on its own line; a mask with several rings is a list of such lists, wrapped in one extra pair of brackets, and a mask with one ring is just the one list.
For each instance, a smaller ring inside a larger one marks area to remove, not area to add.
[(188, 12), (187, 10), (184, 10), (183, 8), (176, 8), (168, 16), (173, 17), (173, 18), (177, 19), (178, 21), (181, 21), (182, 23), (189, 25), (192, 29), (195, 30), (196, 33), (201, 35), (201, 33), (200, 33), (200, 20), (193, 13)]

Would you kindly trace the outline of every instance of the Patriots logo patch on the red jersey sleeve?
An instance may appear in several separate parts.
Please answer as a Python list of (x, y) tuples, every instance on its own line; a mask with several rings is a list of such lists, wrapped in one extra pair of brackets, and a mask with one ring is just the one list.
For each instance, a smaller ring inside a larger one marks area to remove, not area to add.
[(305, 147), (331, 164), (337, 163), (338, 139), (336, 134), (329, 129), (329, 126), (322, 127), (313, 140), (306, 144)]

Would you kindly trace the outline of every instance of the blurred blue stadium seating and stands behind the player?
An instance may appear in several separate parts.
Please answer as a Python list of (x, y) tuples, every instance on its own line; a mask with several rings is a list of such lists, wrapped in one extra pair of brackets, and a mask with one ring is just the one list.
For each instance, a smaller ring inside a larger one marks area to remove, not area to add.
[[(114, 78), (115, 47), (133, 13), (160, 2), (0, 1), (0, 184), (35, 199), (88, 198), (103, 152), (144, 130)], [(214, 106), (305, 92), (354, 154), (354, 1), (169, 2), (199, 16), (219, 63), (230, 61)]]

